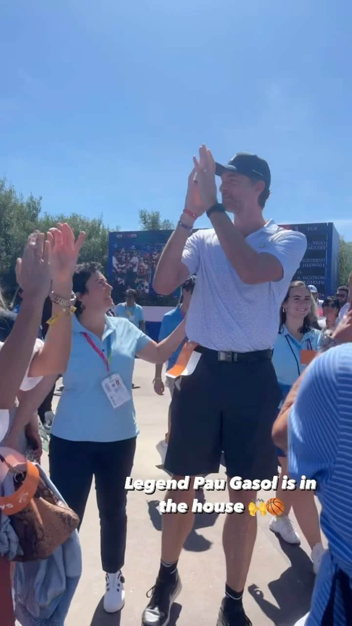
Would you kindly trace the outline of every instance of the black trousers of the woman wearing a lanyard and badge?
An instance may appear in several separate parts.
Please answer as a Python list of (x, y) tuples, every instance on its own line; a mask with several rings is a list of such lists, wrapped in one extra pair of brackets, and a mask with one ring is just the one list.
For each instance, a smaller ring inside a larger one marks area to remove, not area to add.
[(91, 481), (95, 476), (100, 517), (100, 549), (103, 571), (117, 572), (125, 562), (127, 515), (126, 477), (131, 475), (136, 438), (100, 443), (68, 441), (51, 436), (50, 478), (80, 518), (85, 513)]

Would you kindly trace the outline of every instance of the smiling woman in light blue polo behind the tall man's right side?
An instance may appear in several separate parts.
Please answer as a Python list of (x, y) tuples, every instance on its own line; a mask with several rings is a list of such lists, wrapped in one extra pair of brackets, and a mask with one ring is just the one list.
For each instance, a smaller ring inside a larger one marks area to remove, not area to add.
[[(279, 334), (274, 344), (272, 362), (277, 380), (285, 399), (289, 390), (301, 376), (304, 365), (301, 364), (303, 350), (319, 349), (320, 331), (311, 327), (312, 297), (308, 287), (296, 280), (291, 282), (286, 298), (281, 307)], [(287, 476), (287, 459), (283, 450), (277, 450), (281, 475)], [(319, 515), (314, 501), (314, 491), (282, 490), (281, 481), (276, 492), (277, 498), (284, 503), (284, 515), (272, 518), (270, 530), (288, 543), (300, 543), (300, 539), (289, 518), (291, 507), (311, 546), (311, 558), (314, 573), (318, 572), (324, 548), (321, 544)]]

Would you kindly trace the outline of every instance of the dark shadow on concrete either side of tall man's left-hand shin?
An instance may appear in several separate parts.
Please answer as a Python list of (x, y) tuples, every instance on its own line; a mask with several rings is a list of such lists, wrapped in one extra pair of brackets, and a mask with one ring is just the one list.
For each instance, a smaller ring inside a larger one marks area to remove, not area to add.
[[(200, 489), (197, 491), (195, 497), (199, 502), (205, 502), (204, 491)], [(157, 506), (159, 500), (150, 500), (148, 502), (149, 516), (152, 520), (152, 524), (155, 530), (162, 530), (162, 515), (160, 515)], [(205, 552), (212, 546), (212, 542), (205, 539), (203, 535), (199, 535), (196, 531), (200, 528), (208, 528), (214, 526), (219, 513), (195, 513), (194, 526), (192, 532), (185, 541), (184, 549), (190, 552)]]

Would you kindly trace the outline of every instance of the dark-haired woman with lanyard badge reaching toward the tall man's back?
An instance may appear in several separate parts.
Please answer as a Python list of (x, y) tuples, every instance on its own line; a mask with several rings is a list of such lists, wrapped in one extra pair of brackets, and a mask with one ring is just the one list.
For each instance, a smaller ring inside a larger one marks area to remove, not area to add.
[(111, 289), (98, 265), (76, 268), (71, 356), (49, 449), (51, 480), (80, 521), (95, 476), (106, 573), (104, 608), (110, 613), (125, 602), (121, 572), (127, 531), (125, 481), (132, 471), (138, 434), (132, 399), (135, 356), (163, 363), (185, 337), (182, 322), (156, 344), (127, 319), (107, 316), (113, 304)]

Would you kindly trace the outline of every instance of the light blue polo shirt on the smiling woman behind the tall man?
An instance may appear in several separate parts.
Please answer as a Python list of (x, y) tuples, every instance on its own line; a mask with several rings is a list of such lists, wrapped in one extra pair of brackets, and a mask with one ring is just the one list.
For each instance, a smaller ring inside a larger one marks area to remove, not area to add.
[(320, 331), (313, 328), (298, 341), (282, 326), (274, 344), (272, 363), (284, 398), (306, 367), (301, 364), (301, 350), (319, 350), (319, 338)]

